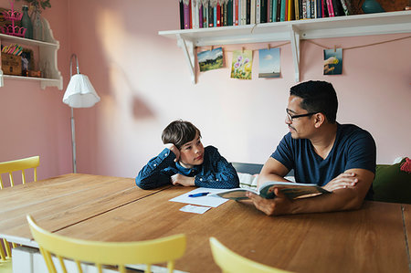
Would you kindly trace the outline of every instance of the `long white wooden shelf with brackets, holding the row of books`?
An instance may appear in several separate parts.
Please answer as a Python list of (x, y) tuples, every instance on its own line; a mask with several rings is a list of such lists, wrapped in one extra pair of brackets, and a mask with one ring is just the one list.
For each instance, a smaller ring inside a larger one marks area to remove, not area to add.
[(411, 33), (411, 11), (356, 16), (337, 16), (246, 26), (159, 31), (159, 35), (177, 39), (184, 50), (195, 83), (195, 47), (290, 41), (295, 80), (300, 81), (300, 40)]

